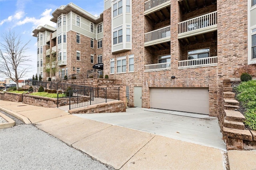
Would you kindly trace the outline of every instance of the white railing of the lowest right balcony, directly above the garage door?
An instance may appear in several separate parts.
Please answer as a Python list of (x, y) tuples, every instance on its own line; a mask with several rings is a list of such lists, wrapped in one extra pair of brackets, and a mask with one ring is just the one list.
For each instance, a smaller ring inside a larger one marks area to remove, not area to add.
[(193, 68), (193, 67), (207, 67), (207, 66), (216, 66), (218, 63), (218, 57), (205, 57), (198, 59), (188, 59), (178, 61), (178, 68)]

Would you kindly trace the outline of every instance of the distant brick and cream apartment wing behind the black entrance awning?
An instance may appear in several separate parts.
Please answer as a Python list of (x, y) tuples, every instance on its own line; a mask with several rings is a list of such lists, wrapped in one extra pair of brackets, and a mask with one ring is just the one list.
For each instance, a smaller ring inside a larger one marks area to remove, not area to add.
[(86, 74), (94, 64), (102, 63), (103, 14), (95, 17), (70, 3), (57, 8), (52, 16), (56, 28), (45, 25), (33, 30), (38, 42), (38, 75), (61, 79)]

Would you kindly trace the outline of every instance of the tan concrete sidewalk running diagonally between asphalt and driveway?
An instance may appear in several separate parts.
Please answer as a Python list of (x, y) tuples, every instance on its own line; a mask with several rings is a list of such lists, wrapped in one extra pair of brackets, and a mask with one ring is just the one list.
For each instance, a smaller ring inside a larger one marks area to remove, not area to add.
[[(0, 100), (0, 109), (116, 169), (226, 169), (226, 152), (218, 148), (84, 119), (57, 108)], [(228, 151), (228, 156), (231, 170), (256, 168), (255, 150)]]

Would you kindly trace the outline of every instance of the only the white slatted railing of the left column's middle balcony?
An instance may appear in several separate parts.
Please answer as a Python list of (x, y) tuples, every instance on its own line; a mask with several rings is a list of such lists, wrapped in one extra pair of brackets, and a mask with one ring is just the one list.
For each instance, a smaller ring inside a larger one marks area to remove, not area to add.
[(169, 38), (171, 36), (170, 29), (171, 29), (171, 26), (166, 26), (166, 27), (145, 33), (145, 43), (152, 42), (155, 40), (161, 40), (163, 38)]

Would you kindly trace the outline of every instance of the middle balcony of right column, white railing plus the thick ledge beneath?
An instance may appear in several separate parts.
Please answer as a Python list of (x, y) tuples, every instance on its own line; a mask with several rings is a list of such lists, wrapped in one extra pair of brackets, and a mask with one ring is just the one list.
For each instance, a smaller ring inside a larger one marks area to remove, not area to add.
[(178, 39), (217, 30), (217, 11), (178, 23)]

